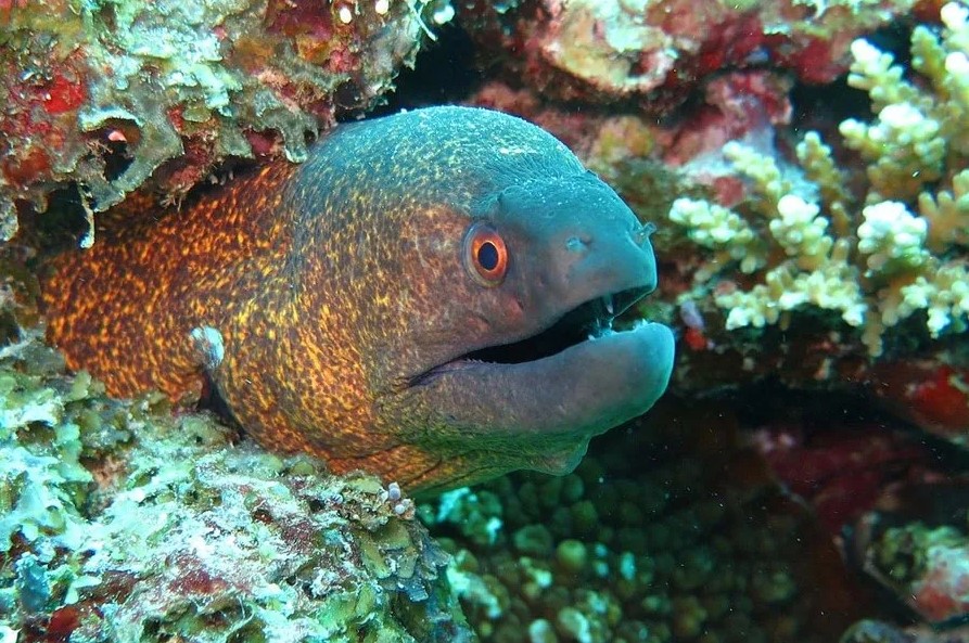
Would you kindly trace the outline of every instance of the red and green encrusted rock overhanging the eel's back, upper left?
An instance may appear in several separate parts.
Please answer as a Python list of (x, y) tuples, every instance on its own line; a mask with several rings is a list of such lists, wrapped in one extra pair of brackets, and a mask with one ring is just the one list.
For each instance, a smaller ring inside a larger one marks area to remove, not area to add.
[[(306, 153), (374, 105), (447, 0), (37, 0), (0, 4), (0, 239), (14, 202), (76, 184), (89, 211), (178, 201), (229, 157)], [(90, 242), (90, 239), (87, 240)]]

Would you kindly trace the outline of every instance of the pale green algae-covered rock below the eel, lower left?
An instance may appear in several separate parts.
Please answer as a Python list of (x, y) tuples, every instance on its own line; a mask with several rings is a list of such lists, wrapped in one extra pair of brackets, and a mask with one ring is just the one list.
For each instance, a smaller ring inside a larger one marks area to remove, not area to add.
[(470, 638), (399, 489), (234, 437), (0, 349), (0, 640)]

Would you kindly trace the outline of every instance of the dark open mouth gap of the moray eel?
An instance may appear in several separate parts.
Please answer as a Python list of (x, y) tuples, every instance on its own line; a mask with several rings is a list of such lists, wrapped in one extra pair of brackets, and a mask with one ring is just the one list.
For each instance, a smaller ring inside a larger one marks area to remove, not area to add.
[(468, 352), (451, 363), (476, 361), (520, 364), (551, 357), (583, 342), (611, 333), (613, 320), (649, 292), (649, 288), (629, 288), (596, 297), (568, 311), (552, 325), (535, 335), (511, 344)]

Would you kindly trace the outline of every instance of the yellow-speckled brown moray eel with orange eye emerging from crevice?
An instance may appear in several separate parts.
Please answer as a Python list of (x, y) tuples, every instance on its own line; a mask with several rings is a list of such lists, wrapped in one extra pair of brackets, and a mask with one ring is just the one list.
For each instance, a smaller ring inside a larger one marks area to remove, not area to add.
[(655, 287), (651, 229), (538, 127), (417, 110), (62, 255), (48, 337), (115, 396), (211, 385), (263, 446), (337, 473), (562, 474), (670, 378), (666, 326), (610, 330)]

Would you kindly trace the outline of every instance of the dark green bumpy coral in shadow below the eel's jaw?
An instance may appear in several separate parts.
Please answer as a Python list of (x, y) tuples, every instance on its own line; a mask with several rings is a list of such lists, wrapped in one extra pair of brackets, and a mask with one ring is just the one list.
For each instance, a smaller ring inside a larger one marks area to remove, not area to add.
[(729, 412), (659, 415), (569, 476), (514, 474), (419, 507), (455, 553), (448, 577), (482, 641), (837, 640), (852, 612), (837, 554), (732, 460)]

